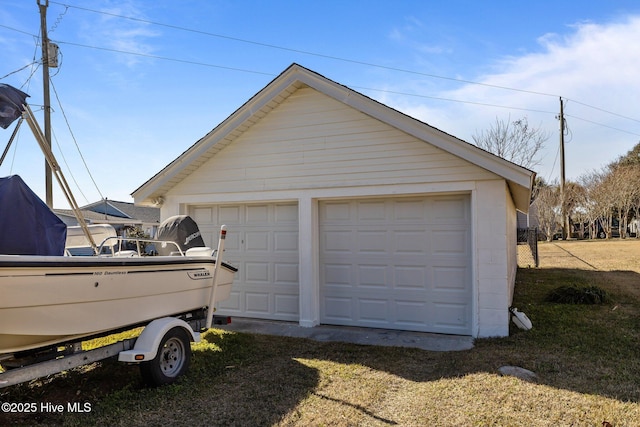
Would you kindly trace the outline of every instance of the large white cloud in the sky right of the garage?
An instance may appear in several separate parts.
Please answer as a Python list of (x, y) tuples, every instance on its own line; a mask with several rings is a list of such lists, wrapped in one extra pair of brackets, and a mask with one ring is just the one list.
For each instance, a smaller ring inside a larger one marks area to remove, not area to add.
[[(470, 78), (482, 85), (461, 84), (454, 90), (428, 94), (510, 108), (392, 95), (383, 102), (467, 141), (472, 141), (478, 130), (491, 126), (496, 117), (515, 120), (526, 115), (530, 124), (553, 133), (539, 167), (541, 175), (553, 179), (559, 173), (559, 125), (555, 116), (560, 108), (558, 97), (562, 96), (569, 99), (565, 115), (571, 131), (566, 145), (567, 177), (577, 178), (624, 155), (640, 141), (640, 55), (635, 46), (640, 40), (640, 16), (605, 24), (581, 23), (569, 30), (563, 35), (541, 35), (537, 40), (539, 51), (501, 58), (492, 64), (491, 74)], [(433, 87), (432, 82), (428, 87)], [(420, 93), (415, 87), (394, 90)]]

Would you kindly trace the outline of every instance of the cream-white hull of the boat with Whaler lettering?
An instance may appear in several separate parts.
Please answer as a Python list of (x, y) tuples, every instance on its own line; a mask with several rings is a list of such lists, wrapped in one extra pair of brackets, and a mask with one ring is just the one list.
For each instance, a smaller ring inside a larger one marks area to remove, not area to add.
[[(0, 255), (0, 354), (40, 348), (209, 305), (213, 257)], [(237, 270), (218, 269), (215, 302)]]

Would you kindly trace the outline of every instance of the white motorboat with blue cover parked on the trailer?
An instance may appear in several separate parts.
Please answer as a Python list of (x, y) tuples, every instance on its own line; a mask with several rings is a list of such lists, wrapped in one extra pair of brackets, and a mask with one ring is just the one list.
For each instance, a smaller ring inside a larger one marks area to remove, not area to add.
[[(0, 199), (0, 254), (7, 254), (0, 255), (0, 361), (203, 308), (207, 309), (206, 327), (210, 327), (215, 303), (229, 297), (237, 268), (204, 247), (199, 230), (197, 236), (186, 231), (188, 245), (175, 242), (175, 250), (163, 248), (168, 242), (157, 243), (160, 255), (143, 256), (140, 248), (149, 241), (137, 242), (133, 248), (106, 243), (104, 247), (112, 249), (104, 255), (26, 105), (27, 95), (7, 85), (0, 84), (0, 89), (0, 127), (6, 128), (20, 115), (27, 121), (95, 254), (64, 256), (66, 226), (56, 223), (57, 217), (37, 196), (44, 206), (42, 216), (32, 214), (32, 205), (38, 204), (33, 200), (20, 212), (19, 200)], [(16, 217), (17, 225), (6, 224), (10, 216)], [(54, 219), (48, 226), (42, 218)], [(25, 242), (19, 227), (33, 228)], [(217, 254), (223, 253), (225, 233), (223, 226)], [(41, 248), (49, 243), (53, 250)]]

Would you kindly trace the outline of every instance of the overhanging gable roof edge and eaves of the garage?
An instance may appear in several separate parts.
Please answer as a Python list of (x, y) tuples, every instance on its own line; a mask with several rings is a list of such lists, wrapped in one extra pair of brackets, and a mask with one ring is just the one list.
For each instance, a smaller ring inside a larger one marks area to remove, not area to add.
[(137, 188), (137, 204), (162, 203), (164, 195), (301, 87), (311, 87), (373, 118), (503, 177), (518, 210), (529, 208), (535, 172), (394, 110), (298, 64), (292, 64), (207, 135)]

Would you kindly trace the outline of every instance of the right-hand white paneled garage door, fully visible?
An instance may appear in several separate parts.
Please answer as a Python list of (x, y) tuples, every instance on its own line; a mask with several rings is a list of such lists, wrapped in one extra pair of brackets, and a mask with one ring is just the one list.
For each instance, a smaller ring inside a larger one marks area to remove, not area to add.
[(321, 323), (470, 335), (467, 195), (320, 203)]

